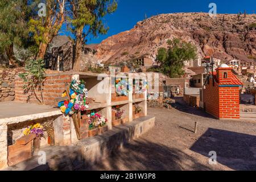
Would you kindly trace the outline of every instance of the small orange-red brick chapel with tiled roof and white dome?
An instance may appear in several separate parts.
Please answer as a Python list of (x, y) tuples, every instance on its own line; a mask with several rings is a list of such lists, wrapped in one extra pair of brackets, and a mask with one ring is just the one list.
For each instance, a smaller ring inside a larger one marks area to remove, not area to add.
[(203, 88), (204, 109), (217, 119), (240, 118), (240, 88), (242, 82), (226, 64), (210, 73)]

